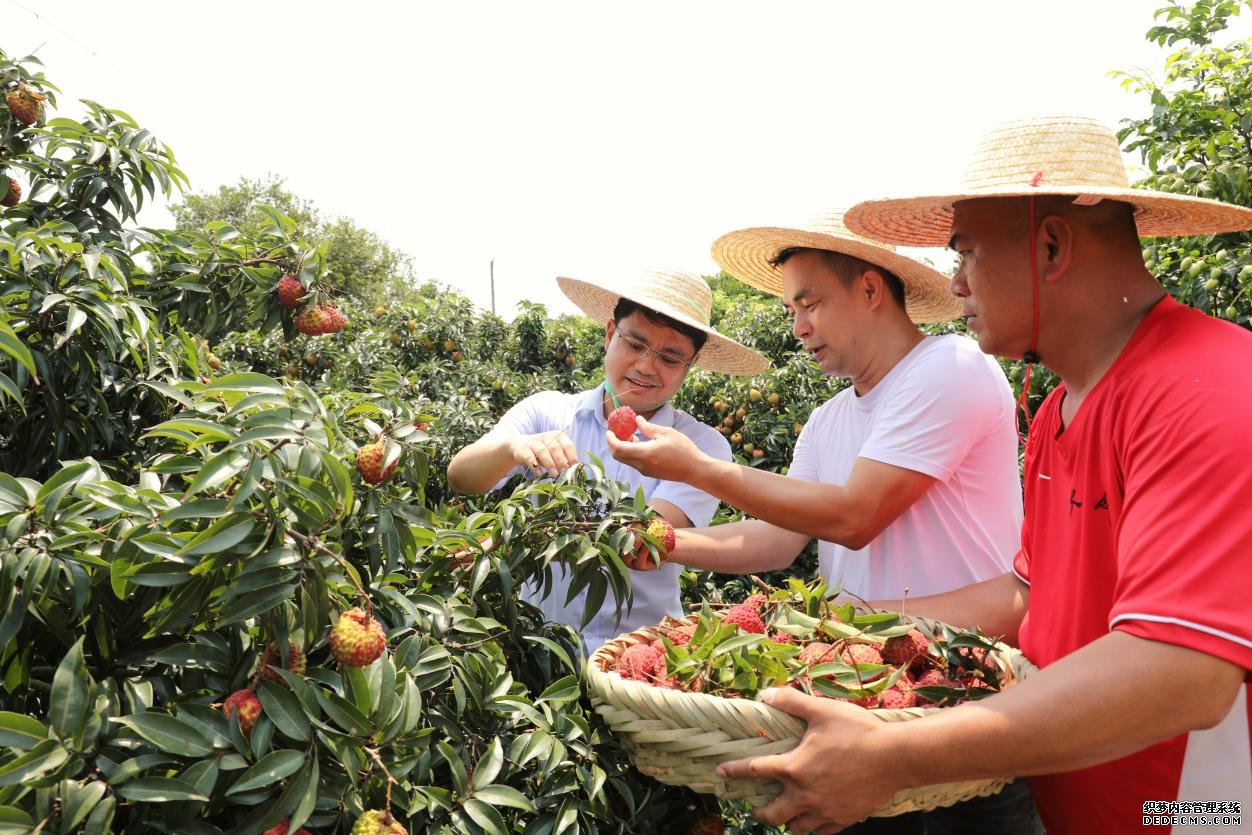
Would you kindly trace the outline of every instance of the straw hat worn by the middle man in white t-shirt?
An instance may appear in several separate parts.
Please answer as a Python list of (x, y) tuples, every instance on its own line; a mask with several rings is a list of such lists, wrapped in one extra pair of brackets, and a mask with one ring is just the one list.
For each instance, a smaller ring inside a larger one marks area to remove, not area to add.
[(947, 275), (894, 247), (853, 234), (841, 212), (819, 218), (808, 230), (755, 227), (731, 232), (712, 243), (712, 259), (739, 280), (782, 295), (781, 270), (770, 262), (794, 247), (843, 253), (894, 273), (904, 283), (904, 309), (914, 322), (948, 322), (960, 315), (960, 299), (953, 295)]

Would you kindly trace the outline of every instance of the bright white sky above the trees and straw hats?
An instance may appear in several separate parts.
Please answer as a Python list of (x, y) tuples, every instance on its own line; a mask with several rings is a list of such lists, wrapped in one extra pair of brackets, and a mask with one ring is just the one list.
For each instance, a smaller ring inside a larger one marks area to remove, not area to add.
[(1107, 73), (1159, 75), (1164, 1), (0, 0), (0, 48), (194, 192), (278, 174), (485, 308), (495, 260), (511, 317), (573, 310), (558, 274), (710, 274), (732, 229), (948, 188), (1005, 119), (1142, 115)]

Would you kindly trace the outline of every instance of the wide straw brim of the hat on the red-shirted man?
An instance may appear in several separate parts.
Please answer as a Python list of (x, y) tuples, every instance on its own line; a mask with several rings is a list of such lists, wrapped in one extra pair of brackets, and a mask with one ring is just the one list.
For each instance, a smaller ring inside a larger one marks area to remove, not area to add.
[(952, 239), (953, 205), (982, 198), (1073, 195), (1129, 203), (1141, 238), (1212, 235), (1252, 229), (1252, 209), (1242, 205), (1146, 189), (1090, 187), (973, 190), (964, 194), (863, 200), (844, 214), (844, 224), (859, 235), (903, 247), (947, 247)]

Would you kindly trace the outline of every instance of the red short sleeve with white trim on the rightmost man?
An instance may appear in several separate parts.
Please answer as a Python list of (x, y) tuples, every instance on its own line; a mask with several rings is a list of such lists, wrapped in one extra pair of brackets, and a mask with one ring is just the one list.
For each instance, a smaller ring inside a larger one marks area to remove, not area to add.
[(1154, 393), (1117, 439), (1126, 498), (1109, 621), (1252, 670), (1252, 394), (1233, 368), (1202, 373), (1226, 381)]

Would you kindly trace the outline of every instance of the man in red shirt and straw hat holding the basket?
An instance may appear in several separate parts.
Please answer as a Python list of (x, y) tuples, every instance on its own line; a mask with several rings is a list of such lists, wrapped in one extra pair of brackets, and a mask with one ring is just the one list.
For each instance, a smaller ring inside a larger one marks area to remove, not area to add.
[(794, 831), (838, 831), (903, 787), (1000, 775), (1030, 777), (1049, 835), (1174, 815), (1248, 831), (1252, 333), (1174, 302), (1139, 235), (1252, 229), (1252, 209), (1132, 189), (1112, 131), (1048, 118), (988, 135), (960, 193), (861, 203), (845, 223), (949, 244), (983, 351), (1062, 378), (1030, 428), (1014, 571), (909, 601), (1042, 669), (908, 722), (770, 692), (808, 720), (804, 740), (724, 774), (781, 780), (757, 816)]

